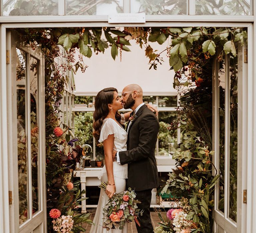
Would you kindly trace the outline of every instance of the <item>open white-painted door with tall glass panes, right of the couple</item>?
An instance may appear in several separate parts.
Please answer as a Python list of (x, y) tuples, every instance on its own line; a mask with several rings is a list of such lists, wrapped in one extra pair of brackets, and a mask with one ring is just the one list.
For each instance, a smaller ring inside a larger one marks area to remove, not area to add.
[(246, 204), (242, 195), (247, 179), (243, 175), (247, 165), (245, 49), (238, 44), (237, 56), (220, 55), (213, 65), (213, 148), (220, 175), (215, 189), (216, 233), (246, 232)]

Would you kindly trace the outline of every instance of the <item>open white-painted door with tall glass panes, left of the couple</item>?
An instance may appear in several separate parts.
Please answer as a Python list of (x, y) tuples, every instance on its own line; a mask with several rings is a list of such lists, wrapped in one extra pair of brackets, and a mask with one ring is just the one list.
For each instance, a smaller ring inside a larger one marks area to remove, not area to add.
[(43, 55), (6, 33), (10, 232), (46, 232)]

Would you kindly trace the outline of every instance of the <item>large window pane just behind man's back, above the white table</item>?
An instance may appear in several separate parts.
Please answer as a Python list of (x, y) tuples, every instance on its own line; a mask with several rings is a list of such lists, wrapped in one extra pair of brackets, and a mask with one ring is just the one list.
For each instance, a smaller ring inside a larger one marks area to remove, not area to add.
[(177, 142), (177, 130), (171, 134), (168, 130), (170, 124), (176, 118), (176, 112), (159, 112), (158, 155), (169, 155), (169, 144)]

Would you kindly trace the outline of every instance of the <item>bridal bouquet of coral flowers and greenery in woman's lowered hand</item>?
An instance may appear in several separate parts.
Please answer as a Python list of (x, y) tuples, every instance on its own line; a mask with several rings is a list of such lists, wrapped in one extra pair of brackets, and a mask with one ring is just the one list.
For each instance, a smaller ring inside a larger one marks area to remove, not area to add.
[[(100, 188), (106, 190), (108, 183), (101, 182)], [(106, 208), (103, 208), (103, 214), (106, 219), (103, 222), (103, 228), (110, 229), (123, 229), (125, 223), (132, 222), (133, 220), (140, 226), (138, 218), (142, 215), (143, 211), (138, 209), (137, 204), (140, 201), (135, 200), (136, 193), (131, 189), (115, 193), (109, 202), (106, 204)]]

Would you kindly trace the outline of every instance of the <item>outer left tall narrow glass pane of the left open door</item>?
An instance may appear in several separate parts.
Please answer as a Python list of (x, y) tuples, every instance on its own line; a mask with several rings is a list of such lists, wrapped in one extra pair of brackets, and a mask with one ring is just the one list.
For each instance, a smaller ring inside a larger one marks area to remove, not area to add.
[(19, 179), (19, 223), (29, 217), (28, 208), (28, 161), (27, 161), (27, 100), (26, 100), (26, 54), (16, 48), (17, 80), (17, 145)]

